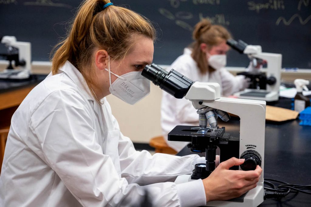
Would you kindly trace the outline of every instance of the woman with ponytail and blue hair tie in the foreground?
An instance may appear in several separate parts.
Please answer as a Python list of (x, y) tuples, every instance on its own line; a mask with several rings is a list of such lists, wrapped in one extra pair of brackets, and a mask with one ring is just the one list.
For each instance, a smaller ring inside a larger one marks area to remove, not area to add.
[(153, 206), (199, 206), (256, 186), (261, 168), (230, 173), (243, 163), (236, 158), (209, 178), (175, 184), (204, 158), (136, 151), (120, 132), (105, 96), (134, 104), (149, 93), (141, 71), (152, 62), (154, 38), (133, 11), (107, 0), (81, 5), (52, 73), (12, 117), (0, 206), (139, 206), (146, 195)]

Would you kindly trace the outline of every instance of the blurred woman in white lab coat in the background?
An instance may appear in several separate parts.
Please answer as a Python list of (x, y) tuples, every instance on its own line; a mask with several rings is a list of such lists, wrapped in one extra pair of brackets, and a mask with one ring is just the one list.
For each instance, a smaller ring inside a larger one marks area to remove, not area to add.
[[(225, 69), (226, 53), (229, 46), (226, 41), (231, 38), (227, 29), (220, 25), (212, 25), (203, 19), (195, 25), (191, 47), (185, 48), (170, 69), (177, 70), (187, 78), (199, 82), (213, 82), (220, 84), (222, 96), (232, 95), (234, 92), (248, 87), (245, 76), (234, 76)], [(167, 134), (176, 125), (199, 125), (197, 110), (192, 102), (186, 99), (176, 99), (163, 92), (161, 103), (161, 127), (167, 144), (176, 151), (185, 147), (187, 142), (173, 142), (167, 140)]]

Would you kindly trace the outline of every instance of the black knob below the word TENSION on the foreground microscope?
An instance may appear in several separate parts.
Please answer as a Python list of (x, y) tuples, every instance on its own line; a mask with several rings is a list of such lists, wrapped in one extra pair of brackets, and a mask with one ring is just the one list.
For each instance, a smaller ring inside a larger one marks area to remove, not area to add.
[(242, 170), (254, 170), (256, 166), (261, 166), (261, 156), (255, 150), (244, 151), (240, 159), (245, 159), (245, 162), (240, 165)]

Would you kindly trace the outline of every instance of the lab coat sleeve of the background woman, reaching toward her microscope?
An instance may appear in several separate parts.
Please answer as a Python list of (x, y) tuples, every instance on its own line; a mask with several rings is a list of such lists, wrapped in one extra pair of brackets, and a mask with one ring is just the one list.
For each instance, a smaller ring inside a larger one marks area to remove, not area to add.
[(235, 92), (244, 90), (248, 86), (244, 75), (234, 76), (225, 68), (220, 69), (220, 76), (223, 96), (230, 96)]

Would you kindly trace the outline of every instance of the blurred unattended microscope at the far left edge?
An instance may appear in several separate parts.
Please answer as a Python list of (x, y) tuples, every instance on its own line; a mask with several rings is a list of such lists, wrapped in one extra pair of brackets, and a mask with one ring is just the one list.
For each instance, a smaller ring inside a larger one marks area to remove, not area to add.
[[(14, 36), (3, 36), (1, 43), (7, 47), (7, 53), (0, 56), (9, 61), (6, 70), (0, 72), (0, 79), (24, 80), (30, 78), (31, 44), (18, 42)], [(13, 67), (14, 62), (15, 67)]]

